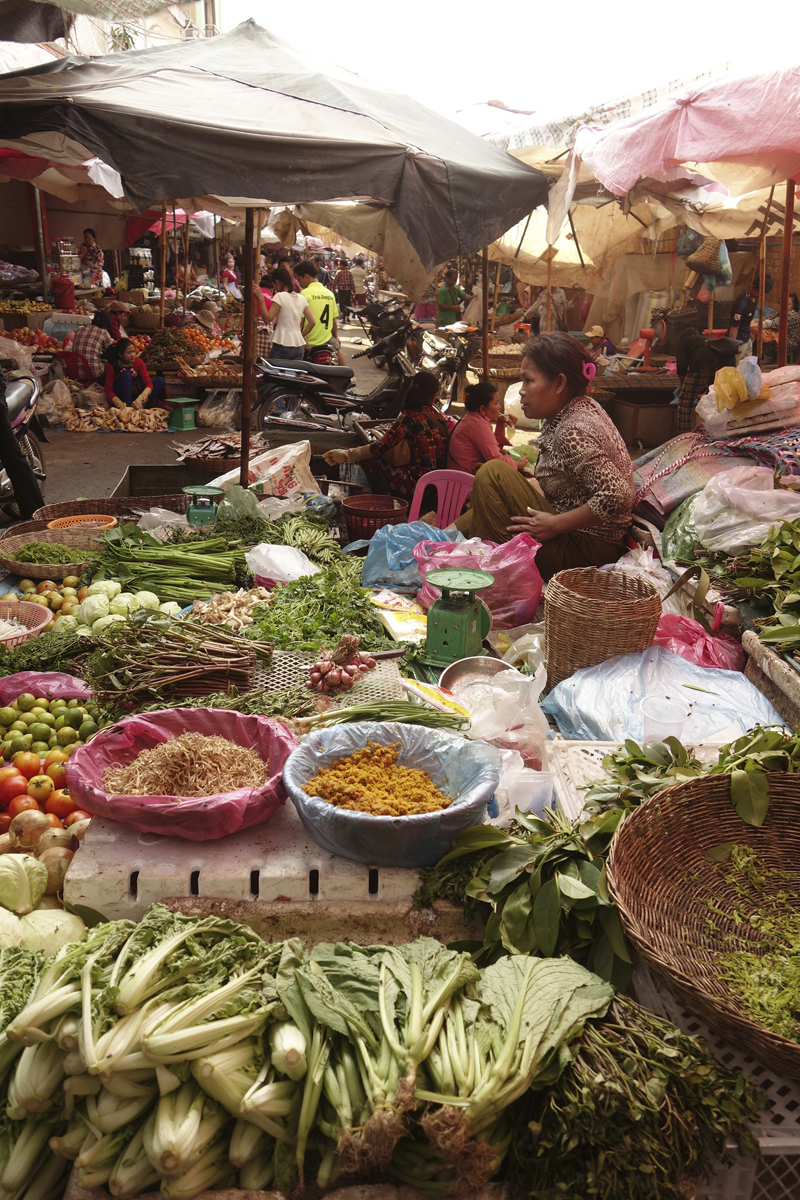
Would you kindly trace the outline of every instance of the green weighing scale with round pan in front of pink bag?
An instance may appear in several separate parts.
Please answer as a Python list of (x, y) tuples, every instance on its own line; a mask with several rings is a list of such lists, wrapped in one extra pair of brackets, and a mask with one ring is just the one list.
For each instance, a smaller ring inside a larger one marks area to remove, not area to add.
[(486, 654), (483, 638), (492, 629), (492, 613), (475, 593), (494, 583), (488, 571), (428, 571), (425, 582), (441, 589), (441, 598), (428, 608), (425, 661), (449, 666), (459, 659)]

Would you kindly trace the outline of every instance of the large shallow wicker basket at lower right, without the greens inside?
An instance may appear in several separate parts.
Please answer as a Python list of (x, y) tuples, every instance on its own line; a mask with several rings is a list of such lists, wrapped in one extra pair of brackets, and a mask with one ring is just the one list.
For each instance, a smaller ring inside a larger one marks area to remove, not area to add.
[(752, 1021), (722, 978), (721, 954), (764, 947), (763, 930), (748, 919), (759, 911), (758, 894), (729, 862), (705, 858), (723, 842), (751, 846), (762, 866), (781, 872), (764, 875), (762, 895), (781, 890), (800, 910), (800, 776), (768, 779), (770, 808), (759, 829), (733, 808), (729, 775), (679, 784), (648, 800), (614, 836), (608, 887), (625, 932), (667, 989), (732, 1045), (800, 1079), (800, 1042)]

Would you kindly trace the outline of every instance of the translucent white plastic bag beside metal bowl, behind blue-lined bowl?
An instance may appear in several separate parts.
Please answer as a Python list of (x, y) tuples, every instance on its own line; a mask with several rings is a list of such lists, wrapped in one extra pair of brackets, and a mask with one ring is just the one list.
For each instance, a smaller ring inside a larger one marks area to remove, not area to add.
[(546, 684), (543, 665), (533, 678), (519, 671), (494, 676), (491, 686), (473, 704), (469, 737), (500, 750), (517, 750), (525, 767), (541, 770), (549, 726), (539, 697)]

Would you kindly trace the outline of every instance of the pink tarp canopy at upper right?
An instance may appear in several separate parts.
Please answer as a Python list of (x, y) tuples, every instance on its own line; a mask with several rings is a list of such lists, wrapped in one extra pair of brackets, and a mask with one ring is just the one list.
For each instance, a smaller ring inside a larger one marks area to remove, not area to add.
[(800, 179), (800, 67), (697, 83), (604, 130), (576, 150), (610, 192), (644, 179), (702, 176), (734, 196)]

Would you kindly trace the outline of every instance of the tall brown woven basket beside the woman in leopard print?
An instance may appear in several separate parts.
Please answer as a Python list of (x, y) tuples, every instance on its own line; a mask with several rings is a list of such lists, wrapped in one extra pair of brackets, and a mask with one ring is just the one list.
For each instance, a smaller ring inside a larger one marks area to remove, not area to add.
[(644, 580), (596, 566), (559, 571), (545, 588), (548, 685), (616, 654), (646, 650), (660, 617), (661, 596)]

